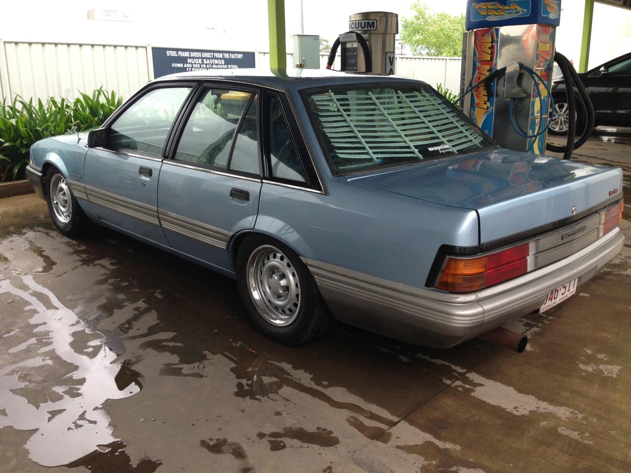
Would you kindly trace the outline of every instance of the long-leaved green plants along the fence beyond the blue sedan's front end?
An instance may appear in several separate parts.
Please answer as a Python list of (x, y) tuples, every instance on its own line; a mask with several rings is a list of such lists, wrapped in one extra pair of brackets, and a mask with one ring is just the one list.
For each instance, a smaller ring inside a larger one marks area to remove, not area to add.
[(100, 126), (122, 103), (113, 91), (98, 88), (73, 101), (49, 97), (45, 102), (15, 96), (0, 104), (0, 182), (23, 176), (33, 143), (49, 136)]

